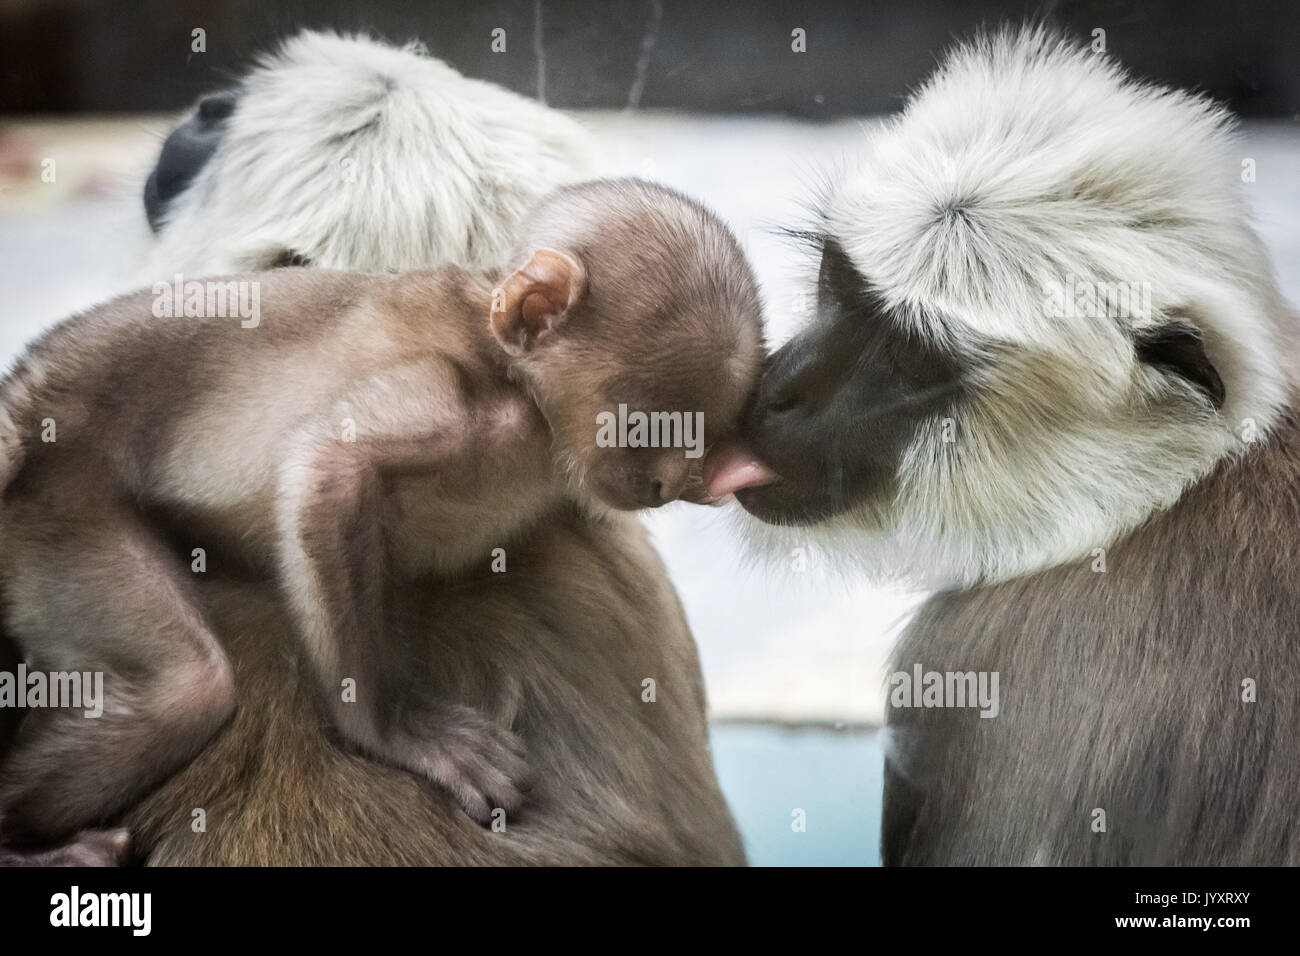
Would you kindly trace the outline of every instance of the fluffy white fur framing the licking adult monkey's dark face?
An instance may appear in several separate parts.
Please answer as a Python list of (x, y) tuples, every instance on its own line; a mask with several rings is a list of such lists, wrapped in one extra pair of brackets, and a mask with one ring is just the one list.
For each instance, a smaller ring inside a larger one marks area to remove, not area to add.
[[(1294, 382), (1294, 316), (1240, 160), (1214, 104), (1044, 30), (952, 52), (835, 186), (827, 232), (901, 321), (994, 362), (956, 441), (923, 428), (897, 496), (824, 540), (926, 585), (1088, 559), (1266, 434)], [(1044, 282), (1070, 276), (1149, 282), (1152, 315), (1052, 317)], [(1136, 360), (1131, 329), (1174, 315), (1204, 334), (1221, 412)]]

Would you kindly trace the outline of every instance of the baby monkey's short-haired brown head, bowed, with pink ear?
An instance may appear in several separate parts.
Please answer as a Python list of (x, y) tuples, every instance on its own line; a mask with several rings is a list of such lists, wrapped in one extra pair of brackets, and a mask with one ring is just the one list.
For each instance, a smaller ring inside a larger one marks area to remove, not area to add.
[(491, 328), (577, 489), (616, 509), (703, 501), (763, 363), (758, 286), (712, 213), (638, 179), (563, 189), (524, 222)]

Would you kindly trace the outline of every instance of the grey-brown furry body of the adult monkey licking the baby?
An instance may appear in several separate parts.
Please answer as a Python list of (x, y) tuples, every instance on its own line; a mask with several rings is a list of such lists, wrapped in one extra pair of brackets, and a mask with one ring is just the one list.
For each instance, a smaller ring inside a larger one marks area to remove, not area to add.
[(889, 709), (885, 864), (1300, 864), (1296, 527), (1292, 411), (1105, 572), (930, 600), (893, 669), (998, 671), (1001, 713)]

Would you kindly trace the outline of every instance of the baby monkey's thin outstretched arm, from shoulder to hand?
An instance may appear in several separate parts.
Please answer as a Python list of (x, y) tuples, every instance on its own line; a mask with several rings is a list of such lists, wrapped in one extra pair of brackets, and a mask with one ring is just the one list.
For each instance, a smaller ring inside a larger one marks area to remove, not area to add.
[(338, 730), (488, 822), (494, 808), (523, 800), (521, 745), (489, 717), (428, 689), (426, 670), (400, 646), (385, 606), (387, 479), (455, 468), (472, 445), (468, 428), (441, 369), (372, 378), (296, 436), (277, 516), (285, 584)]

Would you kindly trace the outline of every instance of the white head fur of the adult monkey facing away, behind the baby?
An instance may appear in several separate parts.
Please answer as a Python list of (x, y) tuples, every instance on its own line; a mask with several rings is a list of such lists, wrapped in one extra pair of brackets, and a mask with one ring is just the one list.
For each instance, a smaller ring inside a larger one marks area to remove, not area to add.
[(286, 252), (337, 269), (495, 264), (524, 212), (593, 173), (575, 121), (413, 44), (303, 33), (240, 87), (148, 281), (265, 268)]

